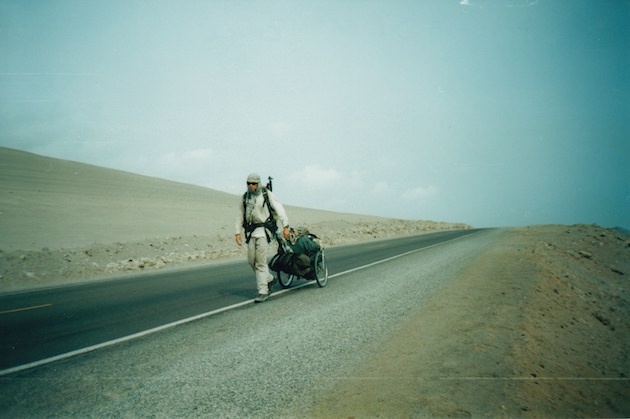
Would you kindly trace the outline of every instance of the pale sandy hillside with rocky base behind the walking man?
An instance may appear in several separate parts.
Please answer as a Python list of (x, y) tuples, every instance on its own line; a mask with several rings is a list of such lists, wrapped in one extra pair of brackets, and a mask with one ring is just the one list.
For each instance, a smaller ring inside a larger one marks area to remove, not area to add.
[[(233, 234), (239, 202), (217, 190), (0, 148), (0, 292), (243, 255)], [(469, 228), (286, 209), (291, 225), (327, 245)]]

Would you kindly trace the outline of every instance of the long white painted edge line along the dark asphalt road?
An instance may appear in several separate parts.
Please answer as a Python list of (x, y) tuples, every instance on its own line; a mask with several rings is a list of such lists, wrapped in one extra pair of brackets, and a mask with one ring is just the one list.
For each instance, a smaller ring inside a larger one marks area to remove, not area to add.
[[(476, 233), (477, 232), (472, 233), (472, 234), (476, 234)], [(448, 242), (451, 242), (453, 240), (457, 240), (457, 239), (460, 239), (462, 237), (468, 237), (468, 236), (470, 236), (470, 234), (466, 234), (465, 236), (459, 236), (459, 237), (456, 237), (454, 239), (450, 239), (450, 240), (447, 240), (447, 241), (444, 241), (444, 242), (436, 243), (436, 244), (433, 244), (431, 246), (422, 247), (420, 249), (410, 250), (408, 252), (401, 253), (401, 254), (396, 255), (396, 256), (391, 256), (391, 257), (388, 257), (388, 258), (385, 258), (385, 259), (378, 260), (376, 262), (368, 263), (367, 265), (358, 266), (356, 268), (348, 269), (347, 271), (343, 271), (343, 272), (338, 272), (338, 273), (336, 273), (334, 275), (328, 276), (328, 278), (329, 279), (330, 278), (335, 278), (335, 277), (338, 277), (338, 276), (341, 276), (341, 275), (345, 275), (345, 274), (348, 274), (348, 273), (351, 273), (351, 272), (356, 272), (356, 271), (359, 271), (361, 269), (366, 269), (366, 268), (369, 268), (371, 266), (378, 265), (380, 263), (389, 262), (391, 260), (398, 259), (398, 258), (401, 258), (403, 256), (407, 256), (407, 255), (410, 255), (412, 253), (419, 252), (421, 250), (430, 249), (432, 247), (439, 246), (439, 245), (442, 245), (444, 243), (448, 243)], [(295, 286), (295, 287), (291, 287), (291, 288), (287, 288), (287, 289), (284, 289), (284, 290), (281, 290), (281, 291), (277, 291), (277, 292), (273, 293), (272, 295), (275, 295), (275, 296), (282, 295), (282, 294), (287, 293), (289, 291), (300, 289), (302, 287), (306, 287), (306, 286), (312, 285), (314, 283), (315, 283), (315, 281), (308, 281), (308, 282), (306, 282), (304, 284), (301, 284), (301, 285), (298, 285), (298, 286)], [(4, 370), (0, 370), (0, 377), (4, 376), (4, 375), (13, 374), (13, 373), (19, 372), (19, 371), (24, 371), (24, 370), (27, 370), (27, 369), (30, 369), (30, 368), (35, 368), (35, 367), (39, 367), (39, 366), (42, 366), (42, 365), (50, 364), (51, 362), (56, 362), (56, 361), (61, 361), (63, 359), (68, 359), (68, 358), (71, 358), (73, 356), (82, 355), (82, 354), (85, 354), (85, 353), (88, 353), (88, 352), (95, 351), (97, 349), (107, 348), (109, 346), (117, 345), (119, 343), (128, 342), (130, 340), (141, 338), (141, 337), (147, 336), (147, 335), (151, 335), (153, 333), (157, 333), (157, 332), (160, 332), (162, 330), (170, 329), (171, 327), (180, 326), (182, 324), (194, 322), (196, 320), (200, 320), (200, 319), (203, 319), (205, 317), (214, 316), (215, 314), (224, 313), (226, 311), (233, 310), (235, 308), (243, 307), (243, 306), (246, 306), (248, 304), (252, 304), (253, 302), (254, 302), (253, 299), (252, 300), (243, 301), (243, 302), (240, 302), (240, 303), (237, 303), (237, 304), (232, 304), (232, 305), (227, 306), (227, 307), (222, 307), (222, 308), (218, 308), (216, 310), (208, 311), (207, 313), (198, 314), (196, 316), (188, 317), (186, 319), (178, 320), (178, 321), (175, 321), (175, 322), (172, 322), (172, 323), (167, 323), (167, 324), (164, 324), (162, 326), (154, 327), (152, 329), (143, 330), (142, 332), (134, 333), (134, 334), (131, 334), (131, 335), (128, 335), (128, 336), (123, 336), (123, 337), (118, 338), (118, 339), (110, 340), (110, 341), (99, 343), (99, 344), (92, 345), (92, 346), (87, 346), (85, 348), (81, 348), (81, 349), (77, 349), (77, 350), (74, 350), (74, 351), (66, 352), (64, 354), (51, 356), (50, 358), (40, 359), (39, 361), (29, 362), (27, 364), (22, 364), (22, 365), (17, 365), (15, 367), (11, 367), (11, 368), (6, 368)]]

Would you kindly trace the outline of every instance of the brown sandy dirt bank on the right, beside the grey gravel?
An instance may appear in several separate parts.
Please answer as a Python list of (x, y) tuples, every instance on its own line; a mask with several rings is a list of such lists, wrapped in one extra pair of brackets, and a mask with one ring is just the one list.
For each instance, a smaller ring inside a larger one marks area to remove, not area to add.
[(558, 234), (503, 233), (309, 416), (627, 415), (625, 285)]

